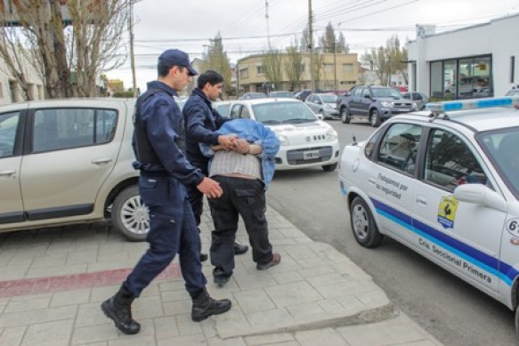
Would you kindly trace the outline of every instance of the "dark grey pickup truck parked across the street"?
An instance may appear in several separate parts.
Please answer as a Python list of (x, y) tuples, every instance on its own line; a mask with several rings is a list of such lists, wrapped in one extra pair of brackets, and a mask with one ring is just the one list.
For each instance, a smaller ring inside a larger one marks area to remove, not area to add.
[(394, 115), (417, 110), (415, 102), (403, 99), (401, 93), (389, 86), (357, 85), (337, 103), (343, 123), (349, 124), (354, 117), (364, 117), (373, 127)]

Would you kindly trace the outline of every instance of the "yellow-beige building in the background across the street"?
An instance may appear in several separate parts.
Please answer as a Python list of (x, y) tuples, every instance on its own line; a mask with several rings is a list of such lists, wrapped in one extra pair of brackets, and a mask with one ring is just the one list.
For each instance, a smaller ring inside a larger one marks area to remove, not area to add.
[[(265, 74), (265, 55), (256, 54), (238, 60), (236, 64), (237, 86), (239, 95), (243, 93), (268, 93), (274, 89)], [(292, 58), (287, 53), (280, 53), (280, 84), (277, 90), (298, 91), (309, 89), (310, 54), (303, 53), (301, 64), (301, 80), (290, 80), (287, 67)], [(356, 53), (319, 53), (316, 54), (319, 74), (314, 76), (315, 88), (320, 90), (349, 90), (359, 79), (359, 62)]]

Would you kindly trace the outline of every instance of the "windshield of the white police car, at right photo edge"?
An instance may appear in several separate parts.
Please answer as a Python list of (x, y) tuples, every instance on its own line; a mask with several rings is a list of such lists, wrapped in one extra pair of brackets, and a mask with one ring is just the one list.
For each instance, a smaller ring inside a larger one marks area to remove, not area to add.
[(519, 127), (479, 133), (477, 140), (491, 157), (515, 198), (519, 199)]

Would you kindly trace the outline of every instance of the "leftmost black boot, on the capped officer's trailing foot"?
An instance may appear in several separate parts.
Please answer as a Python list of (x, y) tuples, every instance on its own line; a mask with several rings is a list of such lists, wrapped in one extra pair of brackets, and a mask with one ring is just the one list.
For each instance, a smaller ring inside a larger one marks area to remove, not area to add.
[(111, 318), (118, 330), (124, 334), (137, 334), (141, 330), (141, 325), (132, 318), (134, 299), (134, 295), (121, 286), (116, 295), (101, 304), (102, 312)]

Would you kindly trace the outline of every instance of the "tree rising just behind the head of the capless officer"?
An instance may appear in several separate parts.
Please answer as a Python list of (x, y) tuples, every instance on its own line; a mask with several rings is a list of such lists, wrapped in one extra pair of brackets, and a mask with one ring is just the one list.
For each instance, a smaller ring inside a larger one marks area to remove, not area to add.
[(201, 65), (203, 70), (212, 69), (223, 76), (223, 93), (226, 95), (235, 94), (231, 87), (231, 63), (227, 52), (223, 51), (220, 32), (211, 40), (211, 45), (208, 47), (207, 52), (204, 52), (202, 55), (202, 60), (204, 60)]

